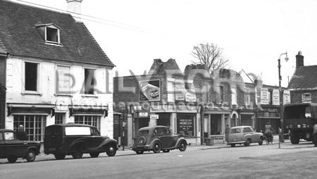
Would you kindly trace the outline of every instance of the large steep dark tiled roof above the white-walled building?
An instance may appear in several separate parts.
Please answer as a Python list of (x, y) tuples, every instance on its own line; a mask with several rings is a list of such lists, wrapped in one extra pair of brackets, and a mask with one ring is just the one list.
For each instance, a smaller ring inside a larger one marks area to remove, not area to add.
[[(61, 28), (61, 46), (45, 44), (36, 27), (45, 24)], [(6, 0), (0, 0), (0, 44), (16, 56), (114, 66), (87, 27), (70, 14)]]

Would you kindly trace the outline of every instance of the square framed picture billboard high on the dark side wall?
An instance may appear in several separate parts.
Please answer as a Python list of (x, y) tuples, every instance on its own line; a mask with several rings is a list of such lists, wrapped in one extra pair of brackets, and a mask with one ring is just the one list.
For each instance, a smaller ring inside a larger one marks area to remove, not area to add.
[(160, 101), (160, 90), (160, 80), (140, 81), (139, 101)]

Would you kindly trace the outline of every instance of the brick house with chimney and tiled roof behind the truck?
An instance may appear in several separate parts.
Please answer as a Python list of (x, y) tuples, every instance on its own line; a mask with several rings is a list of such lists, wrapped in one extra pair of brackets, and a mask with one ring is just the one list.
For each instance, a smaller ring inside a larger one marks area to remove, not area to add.
[(296, 55), (296, 70), (288, 88), (292, 103), (317, 103), (317, 66), (304, 66), (302, 51)]

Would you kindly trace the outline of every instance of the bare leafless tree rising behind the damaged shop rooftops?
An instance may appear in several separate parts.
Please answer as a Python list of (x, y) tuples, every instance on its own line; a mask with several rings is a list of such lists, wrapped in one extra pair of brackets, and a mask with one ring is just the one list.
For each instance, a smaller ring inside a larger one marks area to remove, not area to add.
[(192, 56), (198, 59), (198, 61), (192, 61), (192, 63), (206, 66), (210, 73), (212, 70), (225, 68), (229, 65), (229, 59), (223, 56), (223, 50), (216, 44), (209, 44), (208, 42), (194, 46)]

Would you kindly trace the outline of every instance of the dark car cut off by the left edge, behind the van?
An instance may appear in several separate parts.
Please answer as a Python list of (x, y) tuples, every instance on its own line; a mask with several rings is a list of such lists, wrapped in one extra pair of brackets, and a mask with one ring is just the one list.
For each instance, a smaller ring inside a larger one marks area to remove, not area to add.
[(18, 140), (13, 130), (0, 129), (0, 159), (7, 158), (10, 163), (18, 158), (34, 161), (39, 148), (39, 142)]

